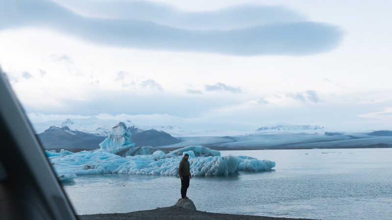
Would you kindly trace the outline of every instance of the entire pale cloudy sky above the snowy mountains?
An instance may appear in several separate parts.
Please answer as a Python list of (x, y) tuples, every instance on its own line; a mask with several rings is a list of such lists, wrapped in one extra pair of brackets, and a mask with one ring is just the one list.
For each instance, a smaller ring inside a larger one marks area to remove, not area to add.
[(2, 0), (31, 120), (392, 130), (388, 0)]

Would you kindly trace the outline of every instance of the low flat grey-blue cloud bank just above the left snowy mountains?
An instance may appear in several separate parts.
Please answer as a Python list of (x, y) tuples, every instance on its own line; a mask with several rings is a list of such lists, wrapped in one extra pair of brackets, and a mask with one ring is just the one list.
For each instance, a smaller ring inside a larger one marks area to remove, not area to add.
[[(33, 101), (22, 103), (26, 112), (41, 112), (44, 114), (82, 114), (96, 115), (100, 113), (121, 114), (170, 114), (179, 117), (200, 117), (212, 109), (221, 109), (228, 105), (241, 104), (242, 99), (233, 97), (216, 97), (203, 95), (172, 96), (168, 92), (156, 91), (154, 95), (143, 91), (141, 95), (132, 92), (96, 91), (88, 99), (80, 100), (77, 97), (56, 97), (59, 103), (53, 105), (48, 101), (37, 105)], [(145, 89), (147, 90), (147, 89)], [(133, 121), (134, 122), (134, 121)], [(169, 125), (169, 124), (168, 124)]]

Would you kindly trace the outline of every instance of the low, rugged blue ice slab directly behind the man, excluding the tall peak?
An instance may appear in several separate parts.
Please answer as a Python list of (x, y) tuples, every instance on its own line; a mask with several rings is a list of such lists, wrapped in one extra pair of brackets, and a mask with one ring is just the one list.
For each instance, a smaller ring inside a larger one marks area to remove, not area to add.
[[(50, 158), (58, 176), (120, 173), (143, 175), (178, 175), (182, 156), (172, 154), (136, 155), (122, 157), (107, 152), (79, 152)], [(269, 171), (275, 162), (245, 158), (242, 156), (199, 156), (190, 157), (193, 176), (229, 175), (236, 171)]]

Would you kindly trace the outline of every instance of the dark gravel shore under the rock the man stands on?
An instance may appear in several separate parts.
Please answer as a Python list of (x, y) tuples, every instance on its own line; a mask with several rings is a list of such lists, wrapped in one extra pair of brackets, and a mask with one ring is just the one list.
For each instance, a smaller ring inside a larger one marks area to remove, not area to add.
[(129, 213), (82, 215), (78, 218), (79, 220), (307, 220), (189, 211), (175, 206)]

